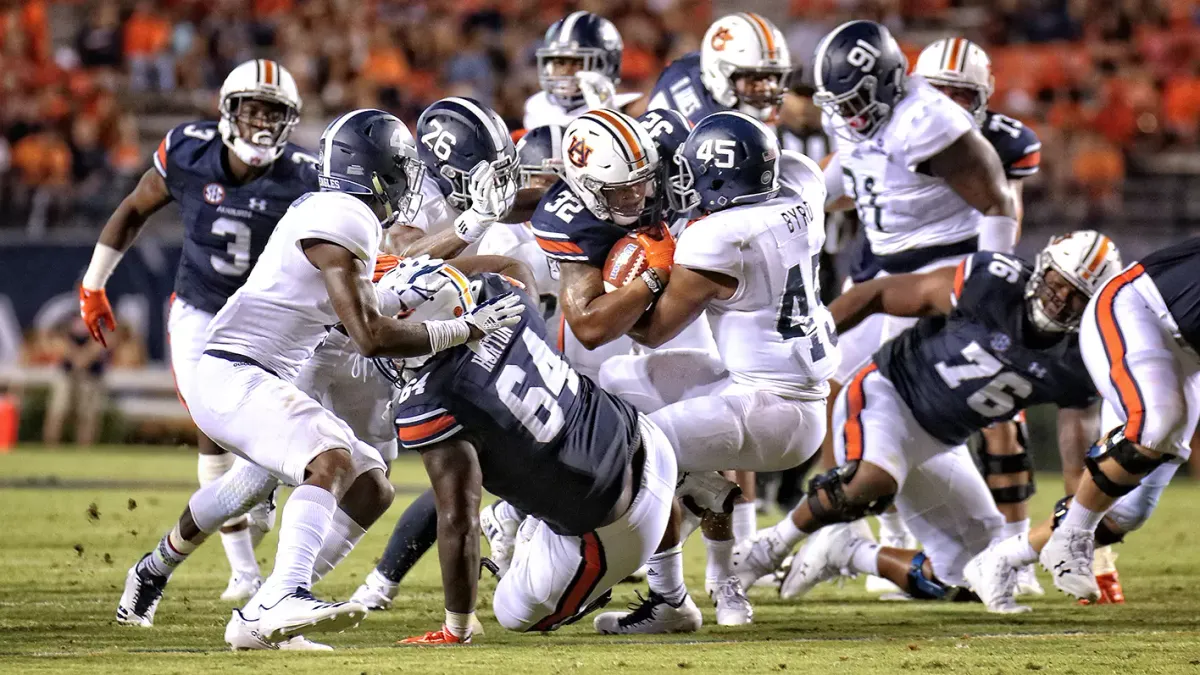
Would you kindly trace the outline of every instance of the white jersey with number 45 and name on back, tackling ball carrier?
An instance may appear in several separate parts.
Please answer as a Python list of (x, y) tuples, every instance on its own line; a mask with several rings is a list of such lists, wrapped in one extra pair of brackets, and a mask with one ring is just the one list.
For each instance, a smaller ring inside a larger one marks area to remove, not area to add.
[(694, 222), (676, 245), (674, 262), (738, 281), (732, 298), (704, 310), (734, 382), (823, 399), (839, 363), (833, 316), (818, 286), (824, 179), (808, 157), (790, 161), (802, 166), (790, 167), (792, 178), (776, 198)]

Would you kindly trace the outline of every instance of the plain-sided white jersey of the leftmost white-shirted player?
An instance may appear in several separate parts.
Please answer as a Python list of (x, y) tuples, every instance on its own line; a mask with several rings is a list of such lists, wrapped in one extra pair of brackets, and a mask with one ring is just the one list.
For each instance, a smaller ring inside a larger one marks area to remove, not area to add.
[(337, 323), (325, 280), (300, 241), (322, 239), (348, 249), (371, 282), (383, 228), (374, 213), (350, 195), (310, 192), (292, 205), (266, 241), (246, 283), (209, 324), (209, 350), (250, 357), (283, 380), (300, 366)]

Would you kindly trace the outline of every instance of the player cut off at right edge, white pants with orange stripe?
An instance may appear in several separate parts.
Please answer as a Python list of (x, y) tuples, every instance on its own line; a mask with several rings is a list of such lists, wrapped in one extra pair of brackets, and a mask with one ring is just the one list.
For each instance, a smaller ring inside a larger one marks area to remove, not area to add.
[[(1200, 239), (1163, 249), (1109, 280), (1085, 312), (1080, 346), (1104, 396), (1103, 429), (1069, 506), (1051, 521), (984, 551), (972, 565), (998, 595), (1006, 568), (1034, 558), (1058, 590), (1097, 602), (1097, 543), (1114, 544), (1150, 518), (1187, 462), (1200, 407)], [(1052, 531), (1052, 532), (1051, 532)]]

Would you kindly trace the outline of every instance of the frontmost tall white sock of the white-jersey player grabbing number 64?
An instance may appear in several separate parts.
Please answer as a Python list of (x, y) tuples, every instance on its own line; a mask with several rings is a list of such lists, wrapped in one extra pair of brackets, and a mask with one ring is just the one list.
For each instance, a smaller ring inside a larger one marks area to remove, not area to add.
[(332, 527), (336, 510), (337, 497), (324, 488), (300, 485), (292, 492), (283, 504), (280, 519), (280, 548), (275, 554), (275, 571), (266, 584), (263, 584), (264, 589), (270, 587), (275, 593), (290, 593), (296, 587), (308, 587), (317, 554)]

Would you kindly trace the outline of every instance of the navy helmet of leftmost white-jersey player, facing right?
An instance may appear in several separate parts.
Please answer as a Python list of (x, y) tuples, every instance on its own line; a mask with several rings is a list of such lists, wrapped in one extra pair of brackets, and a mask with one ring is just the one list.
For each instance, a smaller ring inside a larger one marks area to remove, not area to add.
[(425, 167), (413, 135), (396, 115), (365, 108), (335, 119), (320, 135), (318, 162), (322, 192), (382, 204), (383, 227), (416, 217)]

